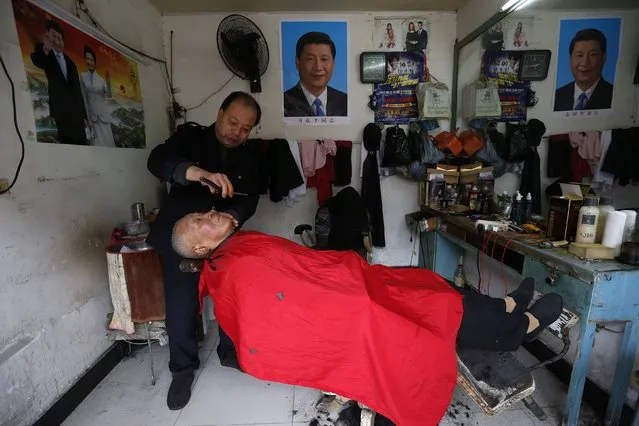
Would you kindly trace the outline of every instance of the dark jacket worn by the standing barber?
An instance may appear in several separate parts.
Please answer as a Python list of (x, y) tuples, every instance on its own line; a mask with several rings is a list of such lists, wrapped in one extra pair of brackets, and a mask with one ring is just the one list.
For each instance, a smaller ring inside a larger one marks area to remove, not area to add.
[[(199, 182), (187, 182), (186, 169), (192, 165), (212, 173), (224, 173), (235, 191), (250, 195), (223, 199), (211, 194)], [(215, 207), (217, 211), (231, 213), (241, 226), (257, 208), (258, 147), (251, 141), (237, 148), (224, 147), (215, 135), (215, 124), (210, 127), (196, 123), (180, 125), (173, 136), (151, 151), (147, 167), (162, 182), (171, 184), (147, 237), (147, 242), (161, 255), (174, 254), (171, 247), (173, 226), (189, 213), (206, 212)]]

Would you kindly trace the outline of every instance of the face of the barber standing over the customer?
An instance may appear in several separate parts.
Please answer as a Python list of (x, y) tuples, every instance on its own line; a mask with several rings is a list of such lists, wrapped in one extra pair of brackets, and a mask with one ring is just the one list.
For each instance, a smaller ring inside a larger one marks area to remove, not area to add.
[(257, 112), (242, 100), (236, 100), (225, 111), (218, 111), (215, 134), (222, 145), (236, 148), (246, 142), (256, 121)]

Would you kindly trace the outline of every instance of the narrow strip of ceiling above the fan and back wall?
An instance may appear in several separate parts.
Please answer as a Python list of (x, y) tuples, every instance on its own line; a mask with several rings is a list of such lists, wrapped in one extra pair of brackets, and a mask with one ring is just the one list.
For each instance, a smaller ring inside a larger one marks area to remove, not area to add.
[(214, 12), (455, 11), (469, 0), (150, 0), (163, 15)]

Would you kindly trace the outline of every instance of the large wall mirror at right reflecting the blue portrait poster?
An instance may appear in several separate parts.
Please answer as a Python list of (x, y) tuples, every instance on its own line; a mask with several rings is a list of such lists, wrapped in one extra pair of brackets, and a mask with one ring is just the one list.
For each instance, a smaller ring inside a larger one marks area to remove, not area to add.
[[(576, 162), (560, 157), (548, 137), (637, 126), (639, 3), (608, 0), (602, 8), (597, 0), (533, 0), (515, 9), (497, 13), (456, 44), (451, 127), (502, 135), (493, 144), (505, 163), (496, 170), (495, 193), (512, 195), (520, 188), (523, 163), (521, 157), (508, 158), (508, 151), (517, 149), (509, 130), (539, 120), (543, 127), (537, 130), (545, 135), (537, 148), (542, 215), (547, 196), (561, 195), (559, 185), (554, 185), (559, 193), (546, 190), (559, 178), (590, 183), (598, 195), (612, 196), (616, 207), (637, 207), (632, 190), (620, 187), (621, 180), (598, 176), (605, 141), (580, 145), (581, 164), (590, 170), (579, 174)], [(497, 112), (491, 98), (495, 94)], [(594, 149), (591, 158), (588, 147)]]

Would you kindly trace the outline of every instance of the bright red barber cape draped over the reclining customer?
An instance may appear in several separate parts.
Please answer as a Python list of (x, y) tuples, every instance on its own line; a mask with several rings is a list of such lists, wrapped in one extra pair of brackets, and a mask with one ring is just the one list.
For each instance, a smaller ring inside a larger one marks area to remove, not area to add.
[(242, 370), (436, 425), (457, 375), (461, 296), (440, 276), (239, 231), (201, 274)]

